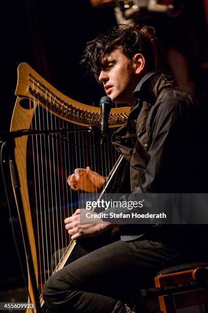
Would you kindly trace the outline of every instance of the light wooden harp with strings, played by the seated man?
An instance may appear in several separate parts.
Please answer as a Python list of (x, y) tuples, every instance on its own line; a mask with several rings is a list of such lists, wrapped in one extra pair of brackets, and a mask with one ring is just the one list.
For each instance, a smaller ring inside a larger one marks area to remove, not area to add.
[[(80, 196), (67, 187), (66, 177), (75, 168), (87, 165), (108, 176), (119, 157), (106, 142), (98, 147), (96, 133), (83, 132), (99, 126), (100, 109), (66, 97), (38, 75), (27, 63), (17, 69), (17, 96), (10, 131), (20, 129), (74, 128), (74, 133), (23, 136), (15, 139), (15, 161), (19, 176), (22, 212), (29, 234), (32, 262), (39, 293), (51, 275), (55, 253), (55, 270), (61, 269), (76, 244), (65, 231), (63, 220), (80, 205)], [(113, 130), (127, 120), (130, 108), (112, 108), (109, 128)], [(97, 146), (97, 147), (96, 147)], [(16, 200), (18, 215), (20, 208)], [(20, 220), (20, 226), (21, 220)], [(24, 238), (23, 238), (24, 240)], [(67, 249), (63, 249), (67, 247)], [(27, 255), (27, 251), (26, 251)], [(79, 256), (78, 256), (79, 257)], [(28, 268), (28, 287), (31, 289)], [(40, 297), (40, 303), (43, 304)]]

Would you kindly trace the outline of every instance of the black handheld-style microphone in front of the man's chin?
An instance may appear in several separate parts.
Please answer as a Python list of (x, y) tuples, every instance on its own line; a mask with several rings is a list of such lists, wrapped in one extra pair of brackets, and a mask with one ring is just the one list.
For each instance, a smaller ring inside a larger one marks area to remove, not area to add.
[(101, 141), (100, 144), (102, 145), (104, 139), (106, 138), (106, 132), (108, 129), (108, 118), (110, 114), (110, 109), (112, 106), (112, 101), (110, 97), (104, 96), (100, 100), (100, 110), (101, 110), (101, 117), (100, 117), (100, 130), (101, 130)]

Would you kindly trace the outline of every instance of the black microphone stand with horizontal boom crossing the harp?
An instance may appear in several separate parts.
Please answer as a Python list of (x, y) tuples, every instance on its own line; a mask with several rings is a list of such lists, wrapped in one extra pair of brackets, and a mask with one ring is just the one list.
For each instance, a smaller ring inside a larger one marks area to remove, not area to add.
[[(15, 155), (14, 155), (14, 149), (15, 149), (15, 138), (22, 137), (22, 136), (29, 136), (29, 135), (50, 135), (53, 133), (61, 133), (63, 137), (66, 136), (68, 132), (75, 132), (75, 131), (98, 131), (99, 129), (97, 127), (83, 127), (83, 128), (69, 128), (69, 129), (48, 129), (48, 130), (28, 130), (28, 129), (21, 129), (21, 130), (16, 130), (16, 131), (5, 131), (5, 132), (0, 132), (0, 144), (1, 146), (4, 145), (5, 153), (4, 153), (4, 160), (3, 165), (10, 164), (10, 172), (11, 172), (11, 180), (12, 180), (12, 185), (14, 188), (14, 193), (15, 193), (15, 198), (16, 202), (19, 207), (19, 219), (21, 223), (21, 230), (22, 230), (22, 235), (24, 237), (24, 244), (25, 244), (25, 250), (26, 250), (26, 258), (28, 262), (28, 267), (29, 267), (29, 273), (30, 273), (30, 279), (31, 279), (31, 286), (33, 290), (33, 295), (34, 295), (34, 301), (35, 301), (35, 307), (37, 313), (41, 313), (41, 307), (40, 307), (40, 301), (39, 301), (39, 293), (38, 293), (38, 288), (36, 284), (36, 277), (35, 277), (35, 270), (33, 266), (33, 261), (32, 261), (32, 252), (30, 248), (30, 242), (29, 242), (29, 234), (28, 234), (28, 229), (27, 229), (27, 224), (26, 224), (26, 219), (25, 219), (25, 214), (24, 214), (24, 209), (23, 209), (23, 204), (22, 204), (22, 198), (21, 198), (21, 193), (20, 193), (20, 183), (19, 183), (19, 176), (18, 176), (18, 171), (16, 167), (16, 162), (15, 162)], [(4, 148), (3, 147), (3, 148)], [(7, 188), (7, 186), (5, 186)]]

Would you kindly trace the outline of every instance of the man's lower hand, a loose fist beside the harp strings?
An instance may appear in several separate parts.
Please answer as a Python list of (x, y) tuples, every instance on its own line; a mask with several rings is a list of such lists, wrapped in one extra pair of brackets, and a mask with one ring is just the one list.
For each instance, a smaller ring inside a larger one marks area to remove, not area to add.
[[(86, 212), (86, 209), (81, 209)], [(68, 234), (72, 235), (72, 239), (76, 240), (78, 238), (83, 237), (91, 237), (96, 236), (107, 229), (111, 229), (114, 226), (109, 222), (104, 222), (101, 218), (95, 218), (95, 223), (82, 223), (80, 224), (80, 209), (77, 209), (75, 213), (71, 217), (67, 217), (64, 219), (65, 229), (68, 231)], [(83, 211), (83, 219), (84, 219), (84, 212)], [(93, 211), (87, 211), (92, 212)], [(91, 221), (91, 219), (90, 219)]]

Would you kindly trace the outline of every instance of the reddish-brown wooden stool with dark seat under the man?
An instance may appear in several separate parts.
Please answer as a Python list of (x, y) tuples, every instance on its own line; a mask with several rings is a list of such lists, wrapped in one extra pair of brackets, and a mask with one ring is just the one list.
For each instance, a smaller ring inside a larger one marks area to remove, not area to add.
[(206, 262), (169, 267), (157, 273), (154, 281), (155, 287), (162, 290), (164, 287), (177, 286), (164, 289), (164, 294), (158, 297), (160, 310), (164, 313), (175, 313), (178, 308), (208, 303)]

